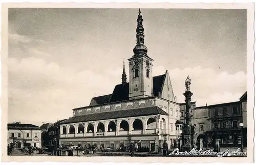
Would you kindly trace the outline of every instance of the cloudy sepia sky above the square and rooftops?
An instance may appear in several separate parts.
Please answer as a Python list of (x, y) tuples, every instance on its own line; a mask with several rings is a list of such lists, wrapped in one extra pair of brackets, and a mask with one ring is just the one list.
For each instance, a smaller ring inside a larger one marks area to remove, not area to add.
[[(246, 92), (246, 10), (141, 9), (153, 75), (197, 106)], [(138, 9), (9, 9), (8, 122), (40, 126), (111, 94), (136, 45)]]

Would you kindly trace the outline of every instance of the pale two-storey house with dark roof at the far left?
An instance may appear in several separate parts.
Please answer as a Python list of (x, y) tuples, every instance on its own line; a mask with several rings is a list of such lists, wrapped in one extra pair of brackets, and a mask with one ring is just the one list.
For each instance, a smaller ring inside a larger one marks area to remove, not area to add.
[(41, 147), (41, 130), (32, 124), (8, 124), (8, 144), (20, 149), (24, 146)]

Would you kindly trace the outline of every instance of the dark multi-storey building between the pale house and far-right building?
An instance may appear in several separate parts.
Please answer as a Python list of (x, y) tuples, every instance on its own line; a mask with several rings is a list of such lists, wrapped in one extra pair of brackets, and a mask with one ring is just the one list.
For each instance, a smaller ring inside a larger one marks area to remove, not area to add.
[(210, 130), (207, 131), (208, 143), (220, 139), (221, 145), (236, 146), (241, 143), (242, 123), (241, 102), (229, 102), (208, 106)]

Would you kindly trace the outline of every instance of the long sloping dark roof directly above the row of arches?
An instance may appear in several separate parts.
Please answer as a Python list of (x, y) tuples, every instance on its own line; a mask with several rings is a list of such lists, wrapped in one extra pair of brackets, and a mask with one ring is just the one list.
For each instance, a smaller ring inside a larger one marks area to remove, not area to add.
[(168, 115), (160, 107), (153, 106), (153, 107), (143, 107), (143, 108), (129, 109), (129, 110), (104, 112), (104, 113), (98, 113), (98, 114), (89, 114), (89, 115), (83, 115), (83, 116), (75, 116), (63, 122), (60, 122), (60, 124), (106, 120), (106, 119), (118, 119), (118, 118), (137, 117), (137, 116), (148, 116), (148, 115), (157, 115), (157, 114)]

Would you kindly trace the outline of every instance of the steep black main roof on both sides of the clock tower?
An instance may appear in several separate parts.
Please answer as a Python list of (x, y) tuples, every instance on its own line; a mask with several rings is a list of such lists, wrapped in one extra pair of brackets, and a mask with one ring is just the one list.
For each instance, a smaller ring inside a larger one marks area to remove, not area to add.
[[(165, 74), (153, 77), (153, 94), (158, 96), (161, 92)], [(112, 94), (93, 97), (89, 106), (101, 105), (105, 103), (129, 100), (129, 82), (124, 85), (116, 85)]]

